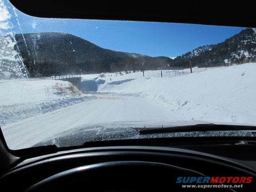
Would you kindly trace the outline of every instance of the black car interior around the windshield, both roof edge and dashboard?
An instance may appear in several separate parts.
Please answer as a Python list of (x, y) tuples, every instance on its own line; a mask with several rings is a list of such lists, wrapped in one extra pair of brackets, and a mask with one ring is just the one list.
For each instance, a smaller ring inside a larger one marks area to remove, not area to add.
[[(10, 3), (25, 14), (42, 18), (256, 27), (254, 6), (244, 6), (238, 1), (10, 0)], [(245, 14), (237, 14), (243, 11)], [(193, 129), (203, 131), (200, 126), (195, 125)], [(8, 148), (0, 130), (0, 191), (192, 191), (176, 183), (177, 177), (252, 178), (242, 188), (198, 188), (197, 191), (255, 191), (255, 126), (215, 125), (213, 129), (250, 130), (254, 136), (117, 139), (85, 142), (81, 146), (48, 145), (13, 150)], [(150, 131), (139, 131), (150, 134)]]

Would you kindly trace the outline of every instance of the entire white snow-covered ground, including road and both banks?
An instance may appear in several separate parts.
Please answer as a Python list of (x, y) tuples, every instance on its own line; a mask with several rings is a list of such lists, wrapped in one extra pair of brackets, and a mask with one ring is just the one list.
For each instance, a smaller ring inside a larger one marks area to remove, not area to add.
[(256, 125), (256, 63), (193, 71), (163, 70), (163, 77), (156, 75), (160, 71), (145, 71), (145, 77), (142, 72), (82, 75), (77, 87), (50, 79), (3, 80), (0, 125), (11, 149), (101, 123), (202, 120)]

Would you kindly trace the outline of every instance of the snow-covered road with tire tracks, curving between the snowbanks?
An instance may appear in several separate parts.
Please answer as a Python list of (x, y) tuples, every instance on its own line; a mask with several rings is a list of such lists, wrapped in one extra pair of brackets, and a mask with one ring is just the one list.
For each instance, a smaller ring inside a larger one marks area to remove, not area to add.
[(39, 141), (81, 125), (175, 120), (169, 111), (145, 98), (122, 95), (97, 95), (97, 98), (4, 126), (8, 147), (31, 147)]

